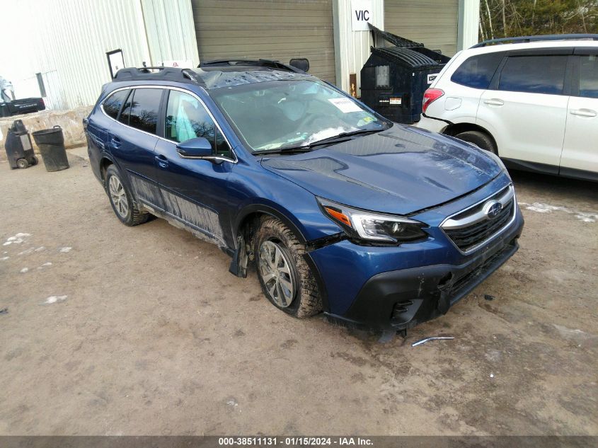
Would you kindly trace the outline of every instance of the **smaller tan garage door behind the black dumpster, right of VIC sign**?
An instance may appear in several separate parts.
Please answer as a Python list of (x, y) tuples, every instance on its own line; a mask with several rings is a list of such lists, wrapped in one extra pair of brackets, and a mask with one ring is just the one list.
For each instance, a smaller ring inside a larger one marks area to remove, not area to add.
[(459, 0), (384, 1), (384, 29), (422, 42), (442, 54), (456, 53)]

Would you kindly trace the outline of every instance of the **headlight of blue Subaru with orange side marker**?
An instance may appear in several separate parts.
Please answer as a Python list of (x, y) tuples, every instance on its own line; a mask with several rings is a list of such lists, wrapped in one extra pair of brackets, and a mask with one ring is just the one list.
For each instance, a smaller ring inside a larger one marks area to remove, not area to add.
[(425, 224), (391, 214), (354, 209), (318, 197), (322, 212), (349, 236), (379, 243), (403, 243), (427, 238)]

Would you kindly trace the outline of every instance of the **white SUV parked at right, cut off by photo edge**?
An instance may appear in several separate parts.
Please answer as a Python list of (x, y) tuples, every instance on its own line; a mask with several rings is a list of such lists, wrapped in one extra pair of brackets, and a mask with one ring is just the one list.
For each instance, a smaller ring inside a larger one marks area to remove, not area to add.
[(488, 41), (457, 53), (425, 92), (416, 126), (513, 168), (598, 180), (598, 42), (580, 37)]

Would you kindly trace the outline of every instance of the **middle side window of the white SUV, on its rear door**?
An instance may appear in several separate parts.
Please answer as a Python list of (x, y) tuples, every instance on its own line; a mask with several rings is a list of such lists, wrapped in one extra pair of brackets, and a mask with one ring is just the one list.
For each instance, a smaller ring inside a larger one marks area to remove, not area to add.
[(502, 67), (498, 90), (560, 95), (565, 86), (567, 56), (512, 56)]

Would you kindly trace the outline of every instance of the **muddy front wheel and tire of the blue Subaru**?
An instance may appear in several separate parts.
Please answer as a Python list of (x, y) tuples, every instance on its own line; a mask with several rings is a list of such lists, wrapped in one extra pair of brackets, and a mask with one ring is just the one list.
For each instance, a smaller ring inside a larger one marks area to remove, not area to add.
[(282, 222), (263, 219), (255, 235), (255, 263), (270, 303), (297, 318), (322, 311), (316, 279), (303, 258), (305, 246)]

